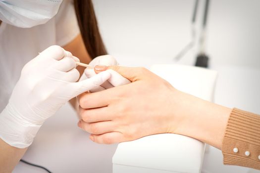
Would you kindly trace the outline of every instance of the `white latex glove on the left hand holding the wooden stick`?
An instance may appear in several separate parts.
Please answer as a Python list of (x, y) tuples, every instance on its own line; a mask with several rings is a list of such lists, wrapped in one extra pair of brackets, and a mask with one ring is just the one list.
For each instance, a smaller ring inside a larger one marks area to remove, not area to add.
[(0, 114), (0, 138), (11, 146), (28, 147), (37, 131), (71, 98), (100, 86), (109, 72), (76, 82), (79, 61), (60, 46), (51, 46), (28, 62)]

